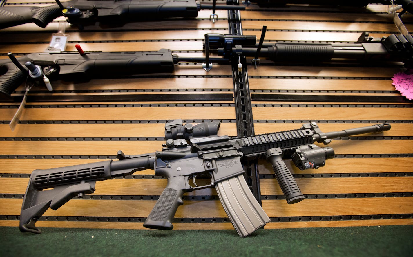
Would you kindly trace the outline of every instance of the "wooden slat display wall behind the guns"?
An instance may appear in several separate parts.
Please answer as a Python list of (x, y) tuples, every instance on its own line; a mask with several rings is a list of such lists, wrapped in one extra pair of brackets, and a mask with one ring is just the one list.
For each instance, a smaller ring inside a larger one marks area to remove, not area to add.
[[(46, 6), (39, 0), (8, 0), (8, 4)], [(25, 5), (27, 6), (27, 5)], [(323, 12), (316, 12), (322, 10)], [(337, 9), (288, 5), (263, 8), (250, 5), (241, 12), (244, 35), (257, 35), (268, 26), (266, 40), (306, 42), (355, 42), (361, 31), (382, 37), (396, 31), (386, 6)], [(219, 20), (207, 18), (211, 11), (199, 12), (194, 20), (139, 22), (113, 29), (86, 26), (80, 31), (66, 26), (70, 35), (67, 50), (74, 51), (80, 43), (85, 51), (146, 51), (167, 48), (180, 56), (204, 56), (202, 39), (205, 33), (228, 33), (225, 11), (218, 11)], [(27, 54), (43, 51), (56, 32), (57, 21), (41, 29), (25, 24), (0, 30), (0, 58), (12, 51)], [(413, 29), (413, 16), (404, 21)], [(139, 28), (140, 31), (135, 30)], [(152, 29), (156, 29), (152, 31)], [(143, 30), (143, 31), (141, 31)], [(317, 94), (354, 96), (399, 96), (391, 77), (403, 71), (391, 67), (265, 65), (248, 67), (251, 93)], [(170, 78), (94, 79), (90, 82), (54, 82), (54, 94), (76, 95), (127, 93), (188, 94), (233, 93), (229, 65), (214, 65), (205, 72), (200, 65), (178, 65)], [(209, 76), (212, 75), (212, 76)], [(347, 79), (346, 79), (347, 78)], [(374, 80), (370, 79), (373, 78)], [(376, 79), (379, 78), (379, 79)], [(22, 94), (23, 86), (17, 89)], [(35, 87), (36, 94), (47, 93)], [(99, 93), (100, 90), (106, 90)], [(112, 90), (112, 91), (110, 91)], [(179, 91), (178, 91), (179, 90)], [(135, 92), (138, 91), (138, 92)], [(80, 92), (80, 93), (79, 93)], [(187, 122), (222, 120), (221, 135), (236, 136), (233, 101), (162, 101), (162, 102), (100, 102), (100, 103), (33, 103), (28, 104), (21, 124), (10, 131), (16, 104), (0, 103), (0, 225), (18, 226), (22, 194), (33, 169), (84, 164), (113, 158), (117, 150), (141, 154), (161, 149), (164, 122), (184, 119)], [(108, 105), (108, 106), (107, 106)], [(168, 105), (168, 106), (166, 106)], [(296, 174), (297, 183), (309, 199), (287, 205), (281, 196), (271, 165), (259, 161), (262, 205), (272, 222), (266, 228), (339, 227), (413, 224), (413, 109), (412, 103), (330, 103), (268, 102), (252, 103), (256, 134), (296, 129), (302, 122), (317, 121), (322, 131), (337, 131), (369, 124), (389, 122), (390, 131), (363, 135), (360, 140), (335, 140), (330, 146), (337, 158), (317, 170), (300, 171), (290, 161), (287, 166)], [(154, 140), (156, 137), (157, 140)], [(366, 138), (365, 138), (366, 137)], [(73, 138), (76, 138), (74, 140)], [(94, 140), (83, 140), (94, 138)], [(104, 140), (100, 138), (105, 138)], [(108, 140), (107, 138), (112, 138)], [(121, 140), (119, 140), (119, 138)], [(127, 138), (140, 138), (128, 140)], [(148, 140), (145, 140), (148, 138)], [(369, 140), (368, 140), (369, 139)], [(70, 156), (70, 157), (69, 157)], [(82, 157), (82, 158), (79, 158)], [(147, 217), (154, 200), (140, 196), (159, 197), (166, 180), (152, 179), (154, 171), (135, 173), (135, 178), (97, 182), (98, 196), (114, 199), (78, 200), (66, 203), (57, 211), (48, 210), (47, 220), (39, 227), (100, 227), (144, 229), (140, 220), (119, 222), (119, 218)], [(145, 177), (145, 178), (143, 178)], [(178, 208), (175, 229), (230, 229), (227, 222), (198, 222), (198, 218), (227, 217), (217, 197), (207, 201), (192, 196), (216, 196), (215, 189), (186, 194), (185, 204)], [(132, 200), (119, 196), (134, 196)], [(56, 217), (60, 218), (57, 220)], [(79, 221), (76, 221), (79, 217)], [(85, 221), (88, 217), (89, 221)], [(89, 219), (90, 217), (90, 219)], [(105, 217), (99, 222), (96, 218)], [(197, 219), (192, 222), (191, 219)], [(290, 221), (289, 221), (290, 220)], [(221, 220), (222, 221), (222, 220)]]

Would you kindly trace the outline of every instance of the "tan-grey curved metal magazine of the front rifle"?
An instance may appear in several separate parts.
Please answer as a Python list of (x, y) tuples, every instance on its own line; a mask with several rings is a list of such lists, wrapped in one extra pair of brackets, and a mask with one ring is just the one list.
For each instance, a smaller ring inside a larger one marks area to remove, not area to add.
[(270, 222), (243, 175), (216, 182), (215, 187), (225, 212), (241, 237)]

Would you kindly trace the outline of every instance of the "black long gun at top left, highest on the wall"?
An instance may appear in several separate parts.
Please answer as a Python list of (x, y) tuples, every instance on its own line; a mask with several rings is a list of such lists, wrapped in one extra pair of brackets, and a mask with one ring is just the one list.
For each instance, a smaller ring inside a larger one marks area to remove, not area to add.
[[(208, 5), (195, 0), (71, 0), (46, 7), (0, 7), (0, 29), (25, 23), (45, 28), (60, 16), (69, 23), (87, 25), (128, 23), (169, 18), (196, 18), (201, 9), (244, 10), (244, 6)], [(216, 15), (216, 14), (215, 14)]]

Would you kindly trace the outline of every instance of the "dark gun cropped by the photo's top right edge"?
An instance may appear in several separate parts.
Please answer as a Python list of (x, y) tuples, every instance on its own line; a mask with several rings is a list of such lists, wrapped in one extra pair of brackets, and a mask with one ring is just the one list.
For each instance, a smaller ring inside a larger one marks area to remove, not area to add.
[[(246, 0), (246, 5), (251, 2), (257, 3), (259, 6), (268, 7), (280, 7), (287, 4), (293, 5), (326, 5), (326, 6), (348, 6), (348, 7), (365, 7), (369, 4), (382, 4), (390, 5), (388, 0)], [(413, 1), (412, 0), (394, 0), (395, 5), (402, 5), (403, 9), (412, 13)]]

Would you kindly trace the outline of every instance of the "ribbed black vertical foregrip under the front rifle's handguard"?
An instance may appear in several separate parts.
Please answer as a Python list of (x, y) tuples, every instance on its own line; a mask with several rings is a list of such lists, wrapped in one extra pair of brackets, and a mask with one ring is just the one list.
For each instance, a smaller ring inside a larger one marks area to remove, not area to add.
[(267, 161), (273, 165), (275, 178), (277, 179), (278, 184), (280, 184), (282, 193), (285, 195), (287, 203), (298, 203), (304, 200), (304, 195), (301, 193), (301, 190), (292, 176), (290, 169), (282, 160), (283, 153), (281, 149), (273, 148), (267, 150), (266, 156)]

